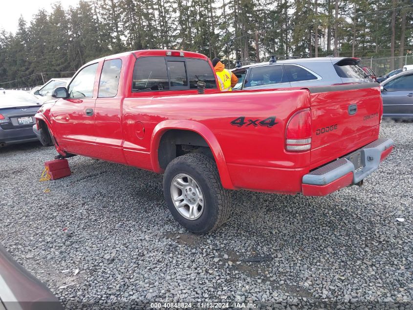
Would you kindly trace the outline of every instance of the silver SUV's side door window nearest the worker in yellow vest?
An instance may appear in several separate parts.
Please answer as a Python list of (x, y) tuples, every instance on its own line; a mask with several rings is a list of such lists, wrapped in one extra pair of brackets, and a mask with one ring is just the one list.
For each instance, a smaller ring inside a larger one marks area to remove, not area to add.
[(283, 71), (283, 66), (270, 65), (251, 68), (248, 81), (245, 82), (244, 88), (287, 83), (287, 77)]

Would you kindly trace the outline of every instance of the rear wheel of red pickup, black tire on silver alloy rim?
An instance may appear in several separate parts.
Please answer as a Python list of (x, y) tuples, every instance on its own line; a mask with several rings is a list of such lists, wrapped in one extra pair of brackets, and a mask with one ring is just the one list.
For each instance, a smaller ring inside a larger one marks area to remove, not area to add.
[(221, 185), (215, 161), (203, 154), (172, 160), (165, 169), (163, 191), (174, 218), (193, 233), (213, 231), (230, 215), (230, 192)]

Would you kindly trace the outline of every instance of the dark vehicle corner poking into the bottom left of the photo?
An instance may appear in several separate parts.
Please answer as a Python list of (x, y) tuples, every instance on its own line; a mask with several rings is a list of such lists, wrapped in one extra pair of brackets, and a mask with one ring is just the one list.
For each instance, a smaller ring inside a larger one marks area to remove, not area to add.
[(0, 309), (63, 310), (50, 290), (0, 245)]

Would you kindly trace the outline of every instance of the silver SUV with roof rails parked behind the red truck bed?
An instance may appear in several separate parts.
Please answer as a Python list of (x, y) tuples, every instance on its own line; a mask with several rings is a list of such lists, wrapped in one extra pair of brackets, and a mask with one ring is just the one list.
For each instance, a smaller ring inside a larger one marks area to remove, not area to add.
[(370, 83), (373, 80), (358, 65), (360, 58), (320, 57), (277, 60), (241, 66), (231, 70), (238, 77), (233, 90), (326, 86)]

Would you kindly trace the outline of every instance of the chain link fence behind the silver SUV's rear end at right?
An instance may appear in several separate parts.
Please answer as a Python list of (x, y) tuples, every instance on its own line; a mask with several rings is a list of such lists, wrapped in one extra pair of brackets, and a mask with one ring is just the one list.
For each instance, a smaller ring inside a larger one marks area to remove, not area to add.
[[(391, 60), (394, 61), (394, 67), (391, 67)], [(371, 67), (377, 76), (385, 75), (392, 70), (403, 68), (405, 65), (413, 65), (413, 55), (399, 57), (362, 57), (360, 66)]]

